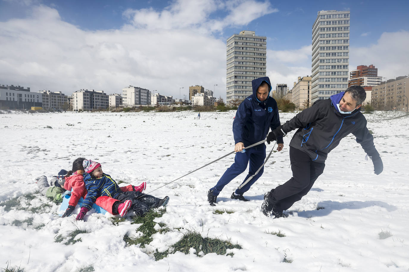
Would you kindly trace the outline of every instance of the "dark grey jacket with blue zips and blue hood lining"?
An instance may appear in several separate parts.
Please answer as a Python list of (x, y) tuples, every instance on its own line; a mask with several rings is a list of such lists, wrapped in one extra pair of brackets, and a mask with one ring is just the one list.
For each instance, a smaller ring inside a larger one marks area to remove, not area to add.
[(339, 113), (337, 104), (344, 94), (341, 92), (330, 99), (317, 100), (310, 108), (285, 122), (282, 126), (284, 133), (298, 128), (290, 146), (307, 153), (313, 161), (324, 162), (341, 139), (352, 133), (369, 156), (379, 157), (373, 137), (366, 128), (366, 119), (359, 109), (352, 113)]

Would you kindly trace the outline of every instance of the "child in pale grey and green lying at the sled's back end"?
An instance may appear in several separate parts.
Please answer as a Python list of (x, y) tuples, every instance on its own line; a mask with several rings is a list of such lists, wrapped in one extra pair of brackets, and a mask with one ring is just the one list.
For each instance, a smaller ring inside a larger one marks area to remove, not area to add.
[(63, 187), (61, 187), (64, 186), (65, 175), (67, 175), (67, 171), (61, 169), (57, 176), (52, 177), (50, 184), (48, 184), (46, 176), (37, 177), (35, 181), (38, 186), (38, 190), (42, 195), (51, 198), (54, 202), (63, 202), (64, 195), (70, 193), (70, 191), (66, 191)]

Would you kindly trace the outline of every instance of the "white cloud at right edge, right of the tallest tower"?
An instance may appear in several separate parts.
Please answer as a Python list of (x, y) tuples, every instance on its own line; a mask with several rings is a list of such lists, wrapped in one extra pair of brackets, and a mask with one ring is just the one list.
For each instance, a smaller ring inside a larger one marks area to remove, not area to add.
[(409, 74), (409, 31), (384, 32), (375, 44), (350, 48), (350, 69), (373, 64), (378, 75), (396, 78)]

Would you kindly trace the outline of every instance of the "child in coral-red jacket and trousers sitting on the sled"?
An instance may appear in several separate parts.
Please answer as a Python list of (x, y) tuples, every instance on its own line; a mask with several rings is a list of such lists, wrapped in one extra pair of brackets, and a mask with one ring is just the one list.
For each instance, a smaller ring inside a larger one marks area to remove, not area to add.
[[(84, 184), (85, 170), (83, 167), (83, 161), (85, 158), (77, 158), (72, 163), (72, 170), (70, 170), (66, 177), (65, 183), (63, 184), (66, 190), (70, 192), (70, 200), (68, 201), (68, 207), (65, 210), (65, 213), (62, 217), (67, 217), (72, 214), (75, 210), (75, 206), (78, 204), (78, 201), (81, 197), (85, 198), (87, 194), (87, 189)], [(139, 191), (143, 192), (146, 188), (146, 182), (142, 182), (139, 186), (128, 185), (120, 187), (123, 192), (126, 191)], [(131, 201), (119, 201), (118, 199), (112, 198), (110, 196), (101, 196), (98, 197), (95, 201), (95, 204), (110, 212), (112, 215), (119, 215), (123, 217), (128, 212)], [(77, 218), (78, 219), (78, 218)]]

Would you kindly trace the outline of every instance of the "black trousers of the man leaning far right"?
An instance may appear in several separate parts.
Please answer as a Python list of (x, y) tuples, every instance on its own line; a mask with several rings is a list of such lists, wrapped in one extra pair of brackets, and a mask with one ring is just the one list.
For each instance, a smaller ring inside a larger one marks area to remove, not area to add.
[(307, 153), (291, 146), (290, 161), (292, 178), (272, 189), (269, 195), (269, 201), (279, 210), (287, 210), (306, 195), (325, 167), (324, 162), (312, 161)]

